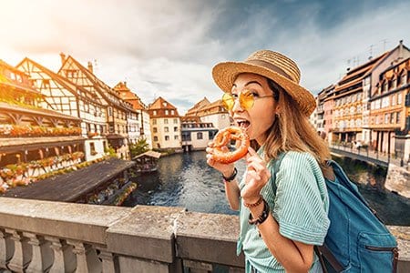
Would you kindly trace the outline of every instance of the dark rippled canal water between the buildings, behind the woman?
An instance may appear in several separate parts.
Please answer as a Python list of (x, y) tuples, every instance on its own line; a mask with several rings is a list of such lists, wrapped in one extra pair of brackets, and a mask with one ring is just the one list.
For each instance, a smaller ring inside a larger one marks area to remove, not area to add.
[[(186, 207), (190, 211), (237, 215), (225, 198), (220, 172), (206, 163), (205, 152), (159, 158), (155, 173), (135, 175), (136, 189), (123, 206)], [(335, 158), (387, 225), (410, 226), (410, 199), (383, 189), (387, 169), (345, 157)], [(239, 175), (245, 162), (237, 163)]]

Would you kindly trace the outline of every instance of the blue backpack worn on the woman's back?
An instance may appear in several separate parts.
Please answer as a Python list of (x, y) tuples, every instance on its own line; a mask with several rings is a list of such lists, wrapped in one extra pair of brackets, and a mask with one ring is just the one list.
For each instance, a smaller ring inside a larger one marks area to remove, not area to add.
[[(282, 153), (274, 161), (273, 192)], [(333, 160), (334, 181), (325, 178), (329, 194), (330, 227), (323, 246), (314, 248), (323, 272), (396, 272), (398, 248), (395, 237), (369, 207), (340, 167)]]

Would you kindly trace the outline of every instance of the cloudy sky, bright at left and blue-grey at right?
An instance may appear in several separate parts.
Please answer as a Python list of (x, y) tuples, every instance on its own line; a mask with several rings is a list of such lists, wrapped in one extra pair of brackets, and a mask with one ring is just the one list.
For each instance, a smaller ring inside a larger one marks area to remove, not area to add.
[(149, 105), (162, 96), (179, 115), (221, 91), (211, 69), (271, 49), (290, 56), (316, 95), (347, 67), (404, 41), (408, 0), (0, 0), (0, 59), (29, 57), (58, 71), (73, 56), (108, 86), (126, 81)]

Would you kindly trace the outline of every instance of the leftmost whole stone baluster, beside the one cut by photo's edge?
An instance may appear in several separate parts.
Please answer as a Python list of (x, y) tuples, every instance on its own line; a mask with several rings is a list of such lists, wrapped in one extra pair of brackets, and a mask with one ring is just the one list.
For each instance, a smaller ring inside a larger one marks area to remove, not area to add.
[(31, 261), (33, 250), (28, 244), (28, 238), (15, 229), (5, 228), (5, 232), (10, 233), (15, 244), (15, 254), (8, 263), (8, 268), (12, 271), (23, 272)]

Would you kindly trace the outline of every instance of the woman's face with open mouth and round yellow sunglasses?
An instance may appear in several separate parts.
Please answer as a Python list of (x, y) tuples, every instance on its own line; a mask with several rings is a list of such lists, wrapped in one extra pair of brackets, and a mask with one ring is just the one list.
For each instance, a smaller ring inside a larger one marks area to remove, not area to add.
[(279, 109), (278, 103), (272, 97), (273, 92), (263, 76), (240, 74), (233, 83), (231, 94), (239, 97), (245, 92), (251, 92), (254, 97), (253, 106), (244, 109), (239, 99), (236, 99), (230, 115), (237, 126), (245, 129), (251, 139), (255, 139), (259, 145), (262, 145), (268, 136), (268, 129), (273, 124), (275, 113)]

